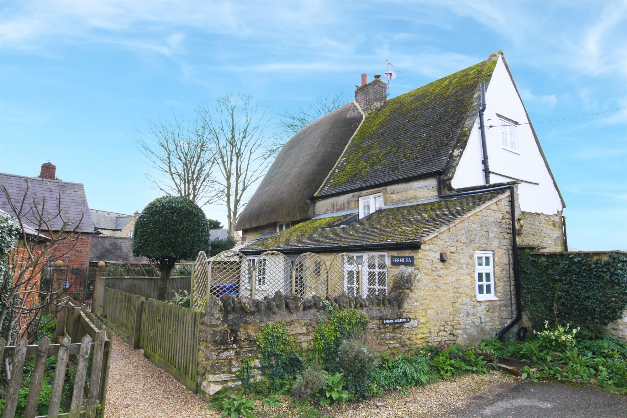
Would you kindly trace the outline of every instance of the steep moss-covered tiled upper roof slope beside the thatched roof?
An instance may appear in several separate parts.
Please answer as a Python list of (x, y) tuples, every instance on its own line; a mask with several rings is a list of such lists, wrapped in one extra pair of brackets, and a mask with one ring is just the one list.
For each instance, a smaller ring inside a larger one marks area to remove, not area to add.
[(416, 88), (369, 114), (316, 196), (440, 172), (470, 132), (463, 129), (499, 53)]

